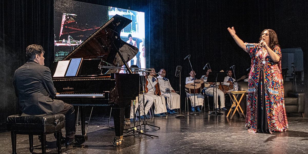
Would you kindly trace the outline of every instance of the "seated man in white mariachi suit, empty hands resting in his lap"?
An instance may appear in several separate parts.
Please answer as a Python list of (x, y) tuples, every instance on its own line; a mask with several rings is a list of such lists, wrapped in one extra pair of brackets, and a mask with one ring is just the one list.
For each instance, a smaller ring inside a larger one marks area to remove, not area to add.
[(167, 98), (167, 112), (169, 114), (176, 113), (174, 109), (180, 108), (180, 95), (175, 93), (175, 91), (170, 85), (170, 81), (165, 78), (166, 70), (161, 69), (159, 71), (159, 74), (160, 75), (157, 77), (157, 79), (159, 82), (161, 95)]

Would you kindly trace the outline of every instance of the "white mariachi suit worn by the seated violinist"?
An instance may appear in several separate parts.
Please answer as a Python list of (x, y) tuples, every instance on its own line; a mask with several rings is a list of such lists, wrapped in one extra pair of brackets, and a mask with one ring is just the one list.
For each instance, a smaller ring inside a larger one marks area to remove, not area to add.
[(151, 75), (149, 75), (147, 80), (149, 82), (147, 86), (148, 87), (147, 95), (150, 95), (154, 98), (154, 114), (167, 112), (166, 101), (164, 96), (155, 95), (156, 79)]

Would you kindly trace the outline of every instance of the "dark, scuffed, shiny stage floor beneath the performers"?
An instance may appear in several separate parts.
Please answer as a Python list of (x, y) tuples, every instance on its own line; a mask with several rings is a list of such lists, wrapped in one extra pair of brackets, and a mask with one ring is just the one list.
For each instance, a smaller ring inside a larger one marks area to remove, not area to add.
[[(149, 124), (160, 129), (146, 127), (146, 133), (156, 135), (154, 139), (142, 135), (125, 137), (122, 145), (114, 147), (113, 121), (108, 116), (97, 114), (90, 120), (88, 141), (81, 147), (62, 147), (63, 154), (101, 154), (101, 153), (308, 153), (308, 118), (288, 117), (289, 130), (282, 133), (249, 133), (245, 119), (235, 115), (232, 120), (224, 115), (185, 115), (177, 119), (175, 115), (155, 117)], [(182, 111), (182, 114), (185, 112)], [(137, 122), (139, 124), (139, 122)], [(132, 125), (132, 124), (131, 124)], [(109, 127), (110, 126), (110, 127)], [(129, 127), (127, 127), (129, 128)], [(63, 129), (63, 134), (64, 134)], [(1, 153), (11, 153), (10, 132), (0, 133)], [(40, 143), (34, 136), (34, 152), (41, 153)], [(56, 153), (54, 136), (47, 136), (47, 153)], [(17, 153), (29, 152), (27, 135), (17, 135)]]

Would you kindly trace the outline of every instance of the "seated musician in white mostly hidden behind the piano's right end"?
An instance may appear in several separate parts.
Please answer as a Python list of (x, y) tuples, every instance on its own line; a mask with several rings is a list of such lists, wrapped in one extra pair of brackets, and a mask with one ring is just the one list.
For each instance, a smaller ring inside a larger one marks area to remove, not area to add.
[[(132, 65), (130, 67), (131, 69), (133, 68), (138, 68), (137, 65)], [(133, 73), (137, 74), (138, 72), (136, 71), (133, 71)], [(150, 116), (148, 115), (148, 111), (150, 110), (150, 108), (152, 107), (153, 105), (153, 102), (154, 102), (154, 98), (150, 95), (144, 95), (144, 101), (143, 101), (143, 95), (142, 94), (139, 94), (139, 98), (136, 97), (136, 100), (135, 101), (135, 113), (138, 109), (138, 106), (140, 104), (140, 113), (139, 113), (139, 117), (140, 119), (144, 119), (144, 118), (150, 118)], [(132, 103), (134, 103), (134, 101), (132, 101)], [(139, 101), (139, 103), (138, 103)], [(146, 105), (144, 107), (144, 102), (146, 102)], [(144, 115), (145, 113), (145, 115)], [(131, 114), (130, 114), (130, 121), (133, 122), (133, 118), (134, 118), (134, 111), (133, 111), (133, 104), (131, 104)], [(136, 119), (138, 120), (138, 119)]]

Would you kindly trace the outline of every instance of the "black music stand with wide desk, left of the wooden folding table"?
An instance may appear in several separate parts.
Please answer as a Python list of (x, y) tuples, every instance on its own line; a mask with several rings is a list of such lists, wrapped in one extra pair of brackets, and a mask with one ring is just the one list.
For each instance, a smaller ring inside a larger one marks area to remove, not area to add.
[[(226, 72), (209, 72), (208, 78), (206, 82), (213, 82), (215, 84), (215, 87), (217, 86), (217, 82), (224, 82)], [(215, 91), (216, 90), (216, 91)], [(213, 88), (213, 96), (215, 97), (215, 92), (217, 95), (217, 87)], [(217, 112), (217, 99), (214, 98), (215, 101), (213, 101), (213, 111), (210, 111), (209, 114), (215, 114), (215, 115), (223, 115), (223, 113)]]

